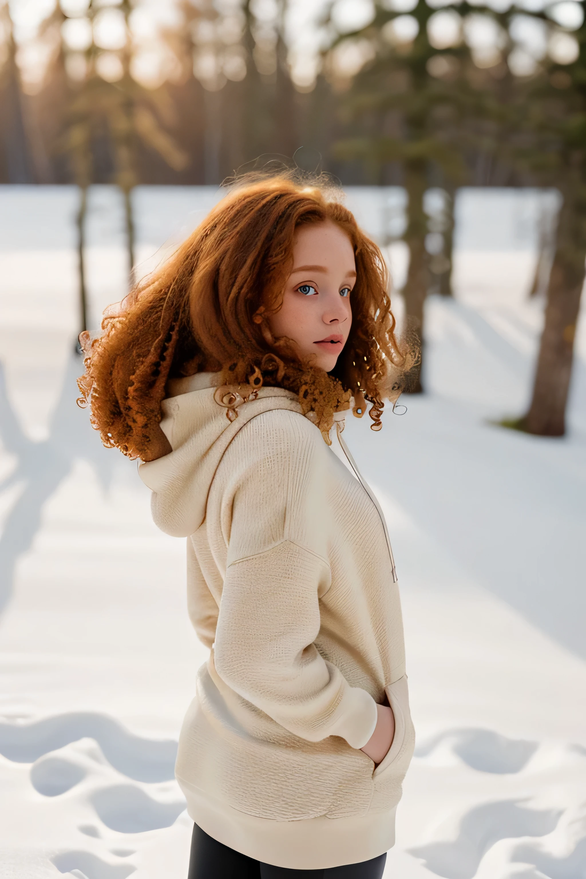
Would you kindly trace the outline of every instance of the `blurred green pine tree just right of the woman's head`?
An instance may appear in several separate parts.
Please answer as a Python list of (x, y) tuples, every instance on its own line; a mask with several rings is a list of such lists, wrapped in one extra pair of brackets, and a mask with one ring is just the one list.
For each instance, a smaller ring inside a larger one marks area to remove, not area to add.
[[(467, 48), (450, 46), (447, 52), (430, 43), (428, 23), (434, 14), (423, 0), (414, 4), (409, 15), (381, 4), (371, 25), (338, 40), (331, 50), (340, 54), (344, 45), (354, 41), (368, 59), (342, 102), (348, 128), (356, 134), (337, 142), (335, 155), (362, 159), (378, 183), (392, 164), (401, 169), (399, 180), (408, 193), (403, 240), (409, 247), (402, 294), (420, 347), (430, 269), (439, 269), (436, 273), (444, 276), (444, 291), (446, 287), (449, 291), (452, 265), (452, 215), (449, 212), (446, 217), (444, 251), (430, 259), (426, 248), (430, 226), (423, 197), (433, 181), (445, 187), (451, 205), (455, 186), (466, 179), (462, 123), (475, 100), (460, 72)], [(410, 378), (407, 389), (412, 393), (422, 390), (420, 372)]]

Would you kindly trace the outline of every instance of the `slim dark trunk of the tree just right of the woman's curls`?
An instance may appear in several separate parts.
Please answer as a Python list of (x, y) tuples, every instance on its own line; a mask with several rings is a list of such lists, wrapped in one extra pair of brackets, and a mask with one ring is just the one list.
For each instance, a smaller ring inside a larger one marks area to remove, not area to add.
[(427, 215), (423, 210), (423, 194), (426, 189), (425, 165), (420, 162), (407, 163), (405, 168), (405, 186), (409, 195), (409, 222), (403, 240), (409, 247), (409, 272), (403, 287), (405, 309), (407, 311), (408, 328), (415, 336), (422, 358), (408, 376), (405, 390), (409, 394), (421, 394), (421, 363), (423, 361), (423, 302), (427, 296), (430, 283), (428, 255), (425, 250), (427, 235)]

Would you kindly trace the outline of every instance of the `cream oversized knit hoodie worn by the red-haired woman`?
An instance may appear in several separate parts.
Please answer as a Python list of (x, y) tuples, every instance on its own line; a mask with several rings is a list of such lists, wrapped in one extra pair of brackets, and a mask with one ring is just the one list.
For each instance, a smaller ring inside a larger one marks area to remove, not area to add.
[[(301, 414), (262, 388), (230, 422), (216, 378), (170, 382), (172, 452), (141, 464), (187, 538), (192, 623), (210, 657), (179, 738), (192, 819), (259, 861), (321, 869), (394, 844), (414, 747), (399, 592), (380, 512)], [(376, 768), (359, 749), (394, 711)]]

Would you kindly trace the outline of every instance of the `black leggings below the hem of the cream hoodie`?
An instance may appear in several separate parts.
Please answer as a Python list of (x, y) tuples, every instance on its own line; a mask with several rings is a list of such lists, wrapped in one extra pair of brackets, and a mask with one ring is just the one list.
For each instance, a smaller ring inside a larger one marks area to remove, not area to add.
[(235, 852), (193, 825), (188, 879), (381, 879), (387, 854), (372, 861), (329, 867), (324, 870), (291, 870), (271, 867)]

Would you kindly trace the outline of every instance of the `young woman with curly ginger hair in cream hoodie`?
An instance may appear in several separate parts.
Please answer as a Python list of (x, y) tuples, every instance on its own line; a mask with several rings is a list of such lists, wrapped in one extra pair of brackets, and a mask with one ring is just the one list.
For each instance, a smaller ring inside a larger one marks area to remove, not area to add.
[(316, 185), (244, 182), (103, 329), (83, 399), (187, 538), (210, 649), (177, 754), (190, 879), (380, 879), (414, 732), (387, 527), (341, 437), (400, 392), (379, 249)]

